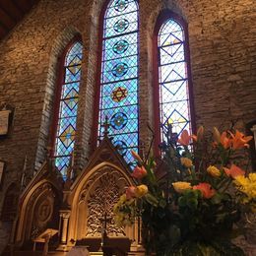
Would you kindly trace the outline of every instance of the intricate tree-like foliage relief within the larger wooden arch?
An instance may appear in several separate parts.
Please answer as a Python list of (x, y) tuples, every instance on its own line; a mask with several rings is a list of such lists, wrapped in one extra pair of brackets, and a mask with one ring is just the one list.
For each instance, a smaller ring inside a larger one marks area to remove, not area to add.
[(125, 232), (122, 227), (117, 227), (113, 219), (113, 206), (120, 196), (120, 187), (117, 179), (110, 173), (103, 175), (96, 185), (96, 189), (88, 199), (88, 229), (87, 236), (100, 236), (102, 220), (105, 216), (106, 233), (108, 236), (124, 236)]

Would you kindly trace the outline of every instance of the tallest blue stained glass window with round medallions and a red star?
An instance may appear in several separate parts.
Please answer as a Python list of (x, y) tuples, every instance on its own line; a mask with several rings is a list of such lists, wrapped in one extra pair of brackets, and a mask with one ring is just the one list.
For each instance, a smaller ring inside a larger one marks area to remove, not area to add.
[(138, 3), (112, 0), (104, 15), (98, 137), (109, 137), (128, 163), (138, 152)]

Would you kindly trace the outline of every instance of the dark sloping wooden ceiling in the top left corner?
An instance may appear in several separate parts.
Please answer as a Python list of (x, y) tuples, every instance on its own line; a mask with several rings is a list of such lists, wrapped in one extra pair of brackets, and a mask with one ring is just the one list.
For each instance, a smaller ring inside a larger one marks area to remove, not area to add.
[(38, 0), (0, 0), (0, 40), (30, 12)]

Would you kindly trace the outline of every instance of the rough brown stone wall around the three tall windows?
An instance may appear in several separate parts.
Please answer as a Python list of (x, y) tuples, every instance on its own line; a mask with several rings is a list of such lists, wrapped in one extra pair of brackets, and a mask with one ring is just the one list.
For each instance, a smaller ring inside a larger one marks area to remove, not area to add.
[[(80, 33), (84, 42), (75, 154), (79, 172), (92, 152), (96, 96), (98, 16), (103, 0), (41, 0), (0, 42), (0, 106), (14, 107), (11, 129), (0, 138), (6, 173), (0, 191), (20, 183), (45, 160), (51, 133), (57, 63)], [(149, 4), (150, 3), (150, 4)], [(154, 123), (152, 38), (160, 10), (188, 23), (197, 124), (245, 129), (256, 120), (256, 2), (254, 0), (140, 0), (140, 137), (146, 144)]]

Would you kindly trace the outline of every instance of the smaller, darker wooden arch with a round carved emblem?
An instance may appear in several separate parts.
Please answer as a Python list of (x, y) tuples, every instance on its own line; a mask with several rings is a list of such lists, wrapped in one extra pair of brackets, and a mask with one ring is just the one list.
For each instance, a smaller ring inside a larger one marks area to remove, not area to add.
[(58, 229), (58, 210), (61, 198), (57, 188), (43, 179), (35, 184), (24, 199), (20, 201), (16, 244), (32, 242), (47, 227)]

